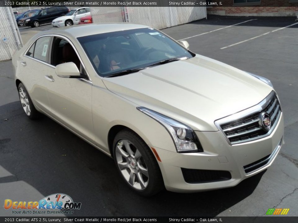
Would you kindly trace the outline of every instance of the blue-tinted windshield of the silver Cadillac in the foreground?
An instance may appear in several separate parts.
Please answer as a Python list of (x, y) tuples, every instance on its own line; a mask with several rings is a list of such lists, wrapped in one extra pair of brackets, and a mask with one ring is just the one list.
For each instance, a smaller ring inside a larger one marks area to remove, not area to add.
[(193, 57), (188, 50), (153, 28), (95, 34), (78, 37), (78, 40), (101, 77), (146, 68), (172, 58)]

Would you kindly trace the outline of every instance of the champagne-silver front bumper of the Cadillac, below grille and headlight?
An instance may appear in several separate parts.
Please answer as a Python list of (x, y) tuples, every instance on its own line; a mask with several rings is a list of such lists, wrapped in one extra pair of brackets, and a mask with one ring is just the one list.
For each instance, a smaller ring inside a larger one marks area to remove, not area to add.
[[(202, 153), (177, 153), (154, 148), (161, 159), (159, 165), (167, 190), (174, 192), (214, 190), (236, 186), (242, 180), (271, 166), (283, 144), (283, 133), (284, 123), (283, 113), (281, 113), (273, 132), (269, 136), (255, 141), (229, 145), (219, 131), (196, 131), (204, 148)], [(181, 168), (228, 171), (231, 174), (231, 179), (187, 183)], [(247, 170), (247, 168), (250, 169)]]

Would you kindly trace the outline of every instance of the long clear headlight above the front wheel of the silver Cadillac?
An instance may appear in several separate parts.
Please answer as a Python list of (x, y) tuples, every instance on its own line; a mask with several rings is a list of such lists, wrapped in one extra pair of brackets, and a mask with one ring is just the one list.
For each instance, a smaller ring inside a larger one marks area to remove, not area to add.
[(187, 125), (145, 107), (137, 109), (158, 121), (171, 135), (177, 152), (203, 152), (196, 133)]

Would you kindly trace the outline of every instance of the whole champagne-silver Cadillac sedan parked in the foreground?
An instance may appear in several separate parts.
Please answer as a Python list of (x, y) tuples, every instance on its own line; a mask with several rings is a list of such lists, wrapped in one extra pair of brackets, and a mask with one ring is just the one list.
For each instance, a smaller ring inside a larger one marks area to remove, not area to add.
[(268, 168), (283, 144), (268, 79), (145, 25), (40, 32), (12, 63), (25, 114), (43, 113), (112, 157), (144, 196), (235, 186)]

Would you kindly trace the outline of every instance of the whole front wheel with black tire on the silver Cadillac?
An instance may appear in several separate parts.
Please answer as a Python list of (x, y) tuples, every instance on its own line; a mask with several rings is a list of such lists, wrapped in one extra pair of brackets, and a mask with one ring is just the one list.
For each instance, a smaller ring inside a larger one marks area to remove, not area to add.
[(147, 144), (133, 131), (124, 129), (115, 136), (113, 155), (120, 176), (139, 195), (152, 196), (164, 188), (155, 156)]

